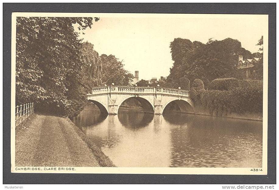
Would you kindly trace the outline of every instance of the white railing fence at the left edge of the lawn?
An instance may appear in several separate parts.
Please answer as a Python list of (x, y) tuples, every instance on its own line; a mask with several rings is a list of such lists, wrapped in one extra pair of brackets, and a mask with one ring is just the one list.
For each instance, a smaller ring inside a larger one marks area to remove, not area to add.
[(16, 128), (23, 125), (34, 113), (34, 103), (26, 103), (16, 106)]

